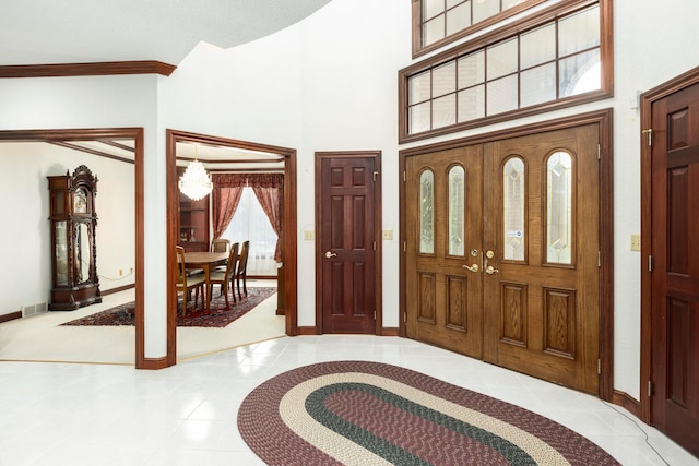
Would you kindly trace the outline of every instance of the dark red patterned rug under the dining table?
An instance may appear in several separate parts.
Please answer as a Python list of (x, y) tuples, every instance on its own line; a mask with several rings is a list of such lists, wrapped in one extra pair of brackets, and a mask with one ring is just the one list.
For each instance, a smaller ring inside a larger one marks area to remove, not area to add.
[[(214, 297), (211, 301), (211, 313), (201, 310), (201, 297), (199, 299), (199, 309), (194, 310), (194, 302), (187, 303), (187, 313), (181, 315), (182, 301), (178, 303), (177, 326), (203, 326), (203, 327), (225, 327), (236, 319), (240, 319), (247, 312), (256, 308), (262, 301), (276, 292), (276, 288), (257, 288), (248, 287), (248, 296), (244, 296), (242, 300), (233, 302), (230, 296), (228, 300), (230, 308), (226, 309), (226, 301), (223, 296), (218, 296), (217, 287), (214, 288)], [(237, 295), (236, 295), (237, 299)], [(82, 319), (67, 322), (62, 325), (133, 325), (135, 302), (127, 302), (106, 311), (97, 312)]]

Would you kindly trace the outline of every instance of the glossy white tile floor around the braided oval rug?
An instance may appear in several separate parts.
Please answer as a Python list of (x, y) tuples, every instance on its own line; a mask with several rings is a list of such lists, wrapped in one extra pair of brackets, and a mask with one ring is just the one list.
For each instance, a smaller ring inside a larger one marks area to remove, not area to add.
[(344, 359), (400, 365), (516, 403), (588, 437), (624, 465), (699, 465), (593, 396), (410, 339), (343, 335), (282, 337), (161, 371), (0, 362), (0, 465), (260, 465), (236, 428), (244, 397), (288, 369)]

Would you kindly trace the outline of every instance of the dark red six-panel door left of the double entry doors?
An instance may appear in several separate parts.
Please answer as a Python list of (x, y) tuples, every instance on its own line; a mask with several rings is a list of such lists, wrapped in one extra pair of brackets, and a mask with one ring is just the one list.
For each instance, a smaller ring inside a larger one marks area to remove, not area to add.
[(376, 333), (376, 155), (318, 157), (317, 318), (322, 333)]

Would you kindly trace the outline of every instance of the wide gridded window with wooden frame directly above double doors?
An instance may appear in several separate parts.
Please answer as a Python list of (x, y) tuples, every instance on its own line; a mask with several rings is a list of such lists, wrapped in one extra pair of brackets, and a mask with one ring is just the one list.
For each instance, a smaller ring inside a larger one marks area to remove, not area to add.
[(400, 142), (611, 97), (611, 0), (554, 4), (401, 70)]

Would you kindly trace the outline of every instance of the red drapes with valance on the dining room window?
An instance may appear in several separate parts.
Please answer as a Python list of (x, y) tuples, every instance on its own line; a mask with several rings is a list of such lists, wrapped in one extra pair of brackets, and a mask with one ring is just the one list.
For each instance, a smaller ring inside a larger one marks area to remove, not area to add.
[(276, 234), (274, 261), (282, 262), (282, 218), (284, 207), (284, 175), (282, 174), (212, 174), (212, 222), (214, 238), (228, 228), (228, 224), (238, 208), (242, 188), (254, 191), (262, 210), (266, 214), (272, 229)]

